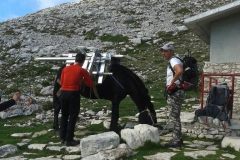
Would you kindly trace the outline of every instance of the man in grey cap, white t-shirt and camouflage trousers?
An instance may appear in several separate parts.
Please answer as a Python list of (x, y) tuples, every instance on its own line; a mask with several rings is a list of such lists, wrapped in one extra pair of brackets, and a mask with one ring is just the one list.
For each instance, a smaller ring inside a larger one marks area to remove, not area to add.
[[(184, 100), (184, 90), (180, 87), (180, 80), (183, 74), (183, 63), (176, 58), (172, 44), (165, 44), (161, 47), (162, 56), (168, 61), (166, 91), (169, 118), (173, 124), (172, 140), (165, 144), (166, 147), (182, 147), (182, 128), (180, 120), (181, 106)], [(171, 65), (171, 66), (170, 66)], [(172, 68), (172, 69), (171, 69)]]

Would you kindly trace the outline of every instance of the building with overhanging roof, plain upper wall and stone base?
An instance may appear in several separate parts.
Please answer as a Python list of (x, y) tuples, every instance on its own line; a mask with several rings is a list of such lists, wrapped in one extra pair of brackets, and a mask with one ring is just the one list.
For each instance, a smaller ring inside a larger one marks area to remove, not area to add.
[(233, 111), (240, 110), (240, 1), (189, 17), (185, 25), (210, 45), (202, 92), (211, 84), (227, 83), (234, 90)]

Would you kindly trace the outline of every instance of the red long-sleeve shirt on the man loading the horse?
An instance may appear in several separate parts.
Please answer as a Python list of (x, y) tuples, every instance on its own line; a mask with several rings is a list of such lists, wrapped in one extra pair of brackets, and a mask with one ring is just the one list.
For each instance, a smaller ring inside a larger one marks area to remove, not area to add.
[(79, 85), (84, 78), (88, 87), (93, 86), (93, 82), (88, 71), (82, 68), (79, 64), (74, 64), (65, 67), (62, 70), (61, 85), (62, 90), (65, 91), (78, 91)]

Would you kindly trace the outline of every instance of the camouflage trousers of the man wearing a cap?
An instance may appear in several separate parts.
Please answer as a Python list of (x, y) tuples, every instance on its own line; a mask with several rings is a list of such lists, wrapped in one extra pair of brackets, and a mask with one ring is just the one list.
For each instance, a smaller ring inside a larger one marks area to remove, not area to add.
[(182, 126), (180, 120), (180, 112), (184, 100), (184, 90), (178, 90), (173, 95), (168, 95), (167, 104), (170, 122), (173, 124), (172, 137), (174, 141), (180, 141), (182, 138)]

